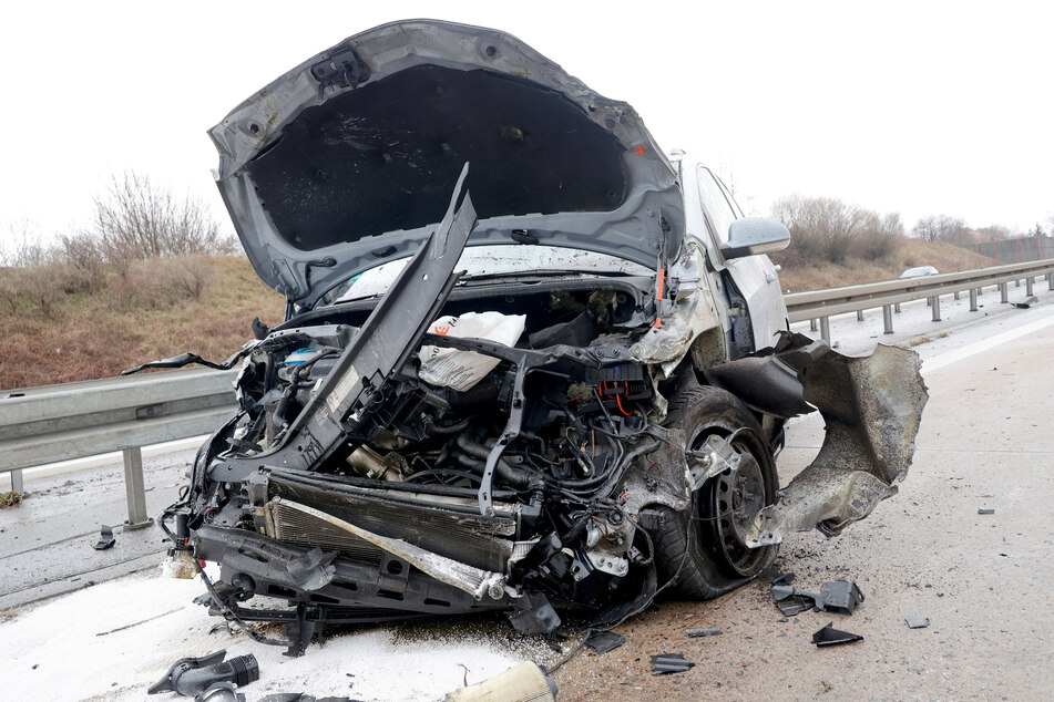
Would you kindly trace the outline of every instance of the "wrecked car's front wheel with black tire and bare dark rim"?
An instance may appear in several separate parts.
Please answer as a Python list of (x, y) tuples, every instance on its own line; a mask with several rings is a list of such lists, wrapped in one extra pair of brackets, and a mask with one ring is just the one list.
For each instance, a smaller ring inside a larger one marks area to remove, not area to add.
[(676, 576), (672, 586), (676, 592), (709, 599), (756, 576), (776, 558), (776, 546), (747, 548), (744, 537), (761, 507), (775, 503), (778, 478), (750, 410), (729, 392), (690, 381), (669, 403), (666, 425), (683, 430), (690, 448), (700, 447), (712, 434), (727, 437), (738, 431), (733, 446), (741, 455), (740, 468), (735, 476), (725, 472), (708, 479), (693, 493), (686, 513), (657, 509), (648, 520), (659, 582)]

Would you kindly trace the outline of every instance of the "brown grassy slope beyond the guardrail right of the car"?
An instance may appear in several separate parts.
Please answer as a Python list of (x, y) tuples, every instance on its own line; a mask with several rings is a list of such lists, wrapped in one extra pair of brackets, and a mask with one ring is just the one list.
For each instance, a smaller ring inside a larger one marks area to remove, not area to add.
[[(774, 257), (777, 258), (778, 256)], [(892, 280), (915, 266), (933, 266), (942, 273), (999, 266), (999, 261), (952, 244), (907, 239), (887, 260), (849, 259), (845, 265), (821, 262), (816, 266), (782, 264), (779, 282), (784, 291), (801, 292), (861, 282)]]

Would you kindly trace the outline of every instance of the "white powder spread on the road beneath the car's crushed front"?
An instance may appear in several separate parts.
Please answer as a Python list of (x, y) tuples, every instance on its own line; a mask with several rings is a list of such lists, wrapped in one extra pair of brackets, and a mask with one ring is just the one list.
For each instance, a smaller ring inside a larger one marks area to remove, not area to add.
[[(203, 592), (197, 578), (140, 574), (18, 612), (0, 623), (3, 696), (141, 701), (176, 660), (226, 649), (227, 659), (253, 653), (259, 661), (260, 679), (243, 690), (249, 701), (276, 692), (439, 700), (462, 685), (462, 665), (469, 684), (474, 684), (535, 653), (515, 651), (513, 638), (439, 636), (424, 628), (420, 638), (406, 641), (392, 629), (368, 627), (311, 644), (300, 658), (287, 658), (285, 649), (244, 634), (231, 637), (223, 629), (208, 633), (222, 620), (191, 602)], [(149, 699), (185, 698), (162, 693)]]

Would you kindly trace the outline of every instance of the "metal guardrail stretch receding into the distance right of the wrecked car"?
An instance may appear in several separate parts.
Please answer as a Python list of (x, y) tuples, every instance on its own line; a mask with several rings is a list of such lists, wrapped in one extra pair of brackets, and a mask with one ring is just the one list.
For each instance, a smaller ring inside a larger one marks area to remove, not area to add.
[(862, 319), (864, 310), (882, 308), (884, 332), (893, 333), (893, 310), (900, 311), (901, 302), (927, 298), (933, 310), (933, 321), (941, 321), (941, 296), (970, 291), (970, 311), (978, 311), (978, 296), (985, 286), (999, 286), (1002, 302), (1007, 301), (1007, 285), (1012, 280), (1025, 280), (1026, 295), (1032, 295), (1036, 277), (1046, 276), (1047, 286), (1054, 290), (1054, 259), (978, 268), (954, 273), (940, 273), (908, 280), (884, 280), (842, 288), (808, 290), (784, 296), (791, 322), (809, 320), (812, 329), (819, 326), (823, 341), (830, 343), (830, 318), (856, 312)]

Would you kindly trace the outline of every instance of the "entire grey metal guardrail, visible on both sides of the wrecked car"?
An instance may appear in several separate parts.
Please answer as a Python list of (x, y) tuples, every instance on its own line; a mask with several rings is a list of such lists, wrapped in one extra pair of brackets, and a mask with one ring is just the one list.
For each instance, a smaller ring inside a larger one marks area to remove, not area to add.
[[(886, 332), (892, 333), (892, 308), (929, 298), (933, 320), (940, 321), (940, 296), (970, 291), (978, 310), (984, 286), (997, 285), (1002, 300), (1011, 280), (1024, 279), (1032, 295), (1036, 276), (1054, 289), (1054, 259), (943, 273), (910, 280), (888, 280), (785, 296), (791, 322), (819, 322), (830, 343), (829, 318), (862, 314), (881, 307)], [(126, 527), (151, 524), (143, 491), (141, 447), (215, 431), (236, 409), (233, 371), (181, 370), (129, 378), (45, 385), (0, 394), (0, 473), (11, 473), (12, 489), (22, 492), (22, 469), (113, 451), (124, 453), (129, 502)]]

